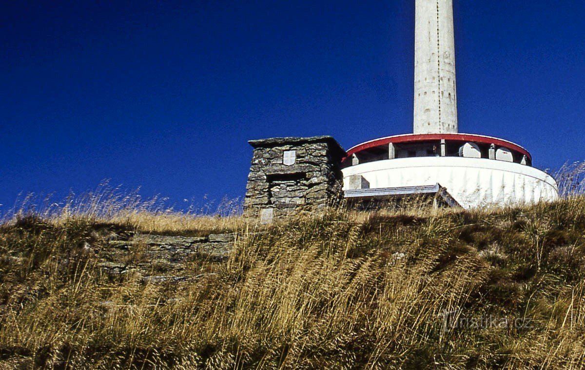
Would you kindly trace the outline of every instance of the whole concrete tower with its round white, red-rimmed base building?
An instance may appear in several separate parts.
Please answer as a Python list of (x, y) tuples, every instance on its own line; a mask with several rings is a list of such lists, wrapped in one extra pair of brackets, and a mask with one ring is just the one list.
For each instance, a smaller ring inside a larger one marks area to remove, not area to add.
[(360, 207), (428, 194), (464, 208), (556, 200), (558, 184), (532, 167), (528, 150), (491, 136), (458, 133), (453, 0), (415, 3), (414, 134), (347, 150), (345, 197)]

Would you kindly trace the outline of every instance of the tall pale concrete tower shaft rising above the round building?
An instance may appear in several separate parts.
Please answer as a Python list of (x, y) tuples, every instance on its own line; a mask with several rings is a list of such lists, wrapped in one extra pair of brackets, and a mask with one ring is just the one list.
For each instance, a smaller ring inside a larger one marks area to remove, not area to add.
[(416, 0), (414, 133), (456, 133), (453, 0)]

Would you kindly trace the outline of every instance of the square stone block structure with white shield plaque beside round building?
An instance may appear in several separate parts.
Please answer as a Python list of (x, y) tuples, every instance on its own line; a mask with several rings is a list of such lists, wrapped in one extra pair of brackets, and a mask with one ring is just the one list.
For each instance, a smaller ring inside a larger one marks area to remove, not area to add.
[(245, 214), (262, 222), (299, 210), (337, 205), (343, 198), (345, 150), (331, 136), (252, 140)]

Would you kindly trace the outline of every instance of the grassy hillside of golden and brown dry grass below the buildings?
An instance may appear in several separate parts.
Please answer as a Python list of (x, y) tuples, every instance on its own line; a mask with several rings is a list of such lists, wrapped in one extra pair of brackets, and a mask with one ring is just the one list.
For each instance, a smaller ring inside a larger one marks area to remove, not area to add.
[[(154, 284), (99, 269), (104, 229), (241, 237), (227, 262), (195, 259), (188, 282)], [(270, 227), (20, 214), (0, 227), (0, 368), (577, 369), (584, 276), (584, 197)]]

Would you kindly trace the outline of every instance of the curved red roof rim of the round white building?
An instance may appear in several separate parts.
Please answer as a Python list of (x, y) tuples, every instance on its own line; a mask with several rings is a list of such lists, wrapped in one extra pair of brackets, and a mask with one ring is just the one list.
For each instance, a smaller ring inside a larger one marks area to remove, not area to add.
[(466, 142), (475, 142), (475, 143), (482, 143), (482, 144), (495, 144), (497, 146), (503, 146), (504, 148), (515, 150), (516, 152), (525, 155), (529, 160), (532, 161), (532, 156), (528, 152), (528, 150), (522, 148), (521, 146), (509, 142), (504, 139), (492, 138), (490, 136), (483, 136), (483, 135), (474, 135), (472, 133), (424, 133), (420, 135), (410, 134), (410, 135), (398, 135), (398, 136), (388, 136), (387, 138), (375, 139), (372, 141), (368, 141), (362, 143), (360, 145), (356, 145), (353, 148), (347, 150), (347, 157), (352, 156), (355, 153), (359, 153), (362, 150), (375, 148), (376, 146), (386, 145), (389, 143), (409, 143), (409, 142), (417, 142), (417, 141), (433, 141), (433, 140), (449, 140), (449, 141), (466, 141)]

